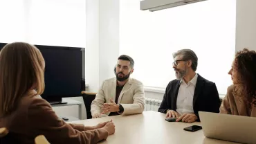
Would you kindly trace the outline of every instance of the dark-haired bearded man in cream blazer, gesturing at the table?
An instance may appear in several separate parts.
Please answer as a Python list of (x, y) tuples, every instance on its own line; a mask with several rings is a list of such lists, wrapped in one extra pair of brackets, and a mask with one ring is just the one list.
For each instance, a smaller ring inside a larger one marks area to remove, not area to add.
[(91, 103), (93, 118), (140, 114), (144, 110), (143, 84), (134, 78), (129, 78), (134, 72), (134, 60), (128, 55), (120, 55), (114, 71), (116, 78), (104, 80)]

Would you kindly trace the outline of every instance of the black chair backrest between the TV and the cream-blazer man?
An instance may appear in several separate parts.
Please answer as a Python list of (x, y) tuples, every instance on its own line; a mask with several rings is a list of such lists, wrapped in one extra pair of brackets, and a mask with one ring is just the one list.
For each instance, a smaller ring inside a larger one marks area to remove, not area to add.
[(86, 91), (82, 91), (82, 98), (84, 100), (84, 105), (86, 108), (86, 114), (87, 114), (87, 119), (91, 119), (91, 102), (95, 99), (97, 93), (89, 93)]

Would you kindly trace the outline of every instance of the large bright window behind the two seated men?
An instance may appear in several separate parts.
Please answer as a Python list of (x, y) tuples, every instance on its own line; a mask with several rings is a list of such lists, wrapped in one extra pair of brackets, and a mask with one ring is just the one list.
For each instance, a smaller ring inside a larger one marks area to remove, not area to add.
[(165, 88), (175, 79), (172, 53), (190, 48), (199, 58), (196, 73), (217, 84), (220, 94), (232, 84), (235, 56), (234, 0), (208, 0), (156, 12), (140, 1), (120, 1), (120, 55), (134, 58), (133, 77), (147, 87)]

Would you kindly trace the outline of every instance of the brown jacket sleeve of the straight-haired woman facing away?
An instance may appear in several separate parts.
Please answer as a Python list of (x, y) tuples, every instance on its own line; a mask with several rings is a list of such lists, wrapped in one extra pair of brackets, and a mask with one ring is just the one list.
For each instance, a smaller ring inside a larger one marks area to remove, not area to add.
[(98, 143), (108, 136), (104, 129), (86, 130), (83, 125), (65, 123), (42, 98), (36, 98), (31, 102), (28, 108), (28, 121), (33, 134), (46, 136), (50, 143)]

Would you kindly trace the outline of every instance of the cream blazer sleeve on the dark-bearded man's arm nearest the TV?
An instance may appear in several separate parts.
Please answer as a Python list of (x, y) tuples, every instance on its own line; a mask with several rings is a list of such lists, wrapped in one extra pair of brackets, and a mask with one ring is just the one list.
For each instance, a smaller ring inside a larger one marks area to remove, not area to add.
[(93, 100), (93, 102), (91, 102), (91, 115), (92, 116), (94, 114), (100, 114), (102, 112), (103, 104), (104, 104), (104, 102), (106, 102), (103, 86), (104, 86), (104, 82), (100, 86), (100, 89), (99, 89), (98, 93), (96, 94), (95, 99)]

